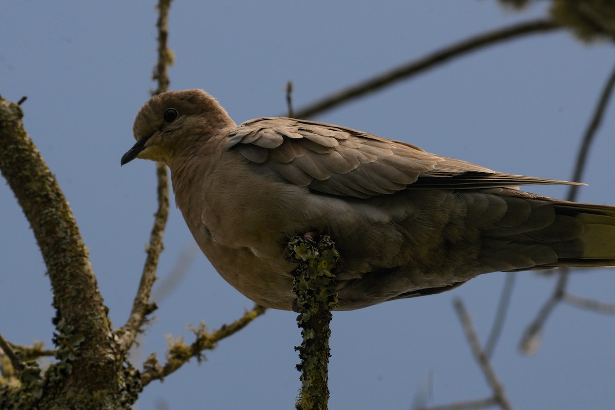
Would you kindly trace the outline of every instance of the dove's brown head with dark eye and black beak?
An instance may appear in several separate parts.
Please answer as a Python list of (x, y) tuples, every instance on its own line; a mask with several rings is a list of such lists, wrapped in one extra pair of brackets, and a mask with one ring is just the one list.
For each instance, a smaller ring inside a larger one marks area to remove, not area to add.
[(132, 132), (137, 143), (122, 156), (121, 164), (141, 158), (169, 165), (178, 153), (234, 126), (218, 101), (203, 90), (161, 93), (135, 117)]

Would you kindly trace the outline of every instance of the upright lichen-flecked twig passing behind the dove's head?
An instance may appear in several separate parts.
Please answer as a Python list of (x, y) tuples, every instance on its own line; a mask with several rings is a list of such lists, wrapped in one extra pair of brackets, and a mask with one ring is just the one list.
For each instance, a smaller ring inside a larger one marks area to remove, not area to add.
[[(170, 4), (171, 0), (160, 0), (158, 3), (159, 18), (156, 23), (158, 28), (158, 60), (154, 69), (154, 79), (158, 81), (158, 87), (153, 92), (153, 95), (164, 92), (169, 87), (167, 66), (170, 63), (170, 50), (167, 47), (167, 37), (169, 36)], [(146, 315), (156, 309), (156, 305), (149, 302), (149, 294), (156, 280), (158, 258), (163, 248), (162, 234), (164, 234), (167, 217), (169, 216), (169, 175), (167, 174), (167, 167), (157, 164), (156, 176), (158, 179), (158, 210), (154, 216), (154, 226), (149, 235), (148, 256), (143, 266), (143, 273), (141, 274), (137, 295), (132, 304), (130, 317), (125, 325), (117, 330), (119, 346), (122, 352), (127, 352), (130, 349), (141, 325), (145, 321)]]

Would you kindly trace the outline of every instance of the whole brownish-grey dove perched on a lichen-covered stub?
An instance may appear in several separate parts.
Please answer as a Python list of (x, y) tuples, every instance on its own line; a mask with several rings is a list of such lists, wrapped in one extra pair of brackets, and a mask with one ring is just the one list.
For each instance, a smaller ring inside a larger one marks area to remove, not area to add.
[(295, 235), (328, 234), (338, 310), (437, 294), (490, 272), (615, 266), (615, 207), (520, 191), (576, 184), (499, 173), (338, 125), (236, 125), (203, 90), (140, 109), (135, 158), (169, 167), (177, 207), (218, 273), (247, 298), (293, 309)]

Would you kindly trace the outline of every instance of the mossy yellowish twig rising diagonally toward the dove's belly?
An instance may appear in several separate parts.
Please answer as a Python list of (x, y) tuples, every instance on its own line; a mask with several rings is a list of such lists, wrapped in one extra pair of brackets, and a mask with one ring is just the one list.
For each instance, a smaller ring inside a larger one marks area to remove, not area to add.
[(196, 340), (191, 345), (183, 344), (181, 339), (173, 343), (172, 349), (167, 353), (167, 363), (164, 366), (157, 365), (155, 358), (150, 357), (146, 362), (146, 370), (141, 373), (141, 384), (143, 387), (148, 385), (153, 380), (163, 379), (173, 373), (185, 363), (196, 357), (201, 360), (203, 350), (215, 349), (218, 342), (232, 334), (237, 333), (245, 328), (251, 321), (262, 315), (266, 307), (255, 304), (249, 312), (245, 312), (244, 316), (240, 317), (230, 325), (223, 325), (220, 329), (212, 333), (206, 333), (204, 326), (199, 329), (194, 329)]

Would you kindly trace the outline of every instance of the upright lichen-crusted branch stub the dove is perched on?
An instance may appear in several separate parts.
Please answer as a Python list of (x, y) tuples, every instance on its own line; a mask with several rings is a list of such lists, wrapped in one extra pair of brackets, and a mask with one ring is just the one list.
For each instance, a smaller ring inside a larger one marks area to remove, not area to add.
[(331, 270), (339, 259), (335, 243), (322, 235), (319, 243), (295, 237), (288, 242), (290, 256), (299, 261), (293, 271), (293, 292), (297, 296), (298, 326), (303, 329), (299, 351), (301, 390), (296, 401), (298, 410), (327, 409), (329, 399), (328, 363), (331, 310), (338, 305), (335, 275)]

